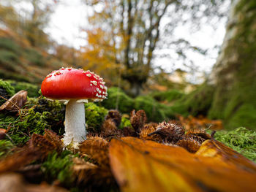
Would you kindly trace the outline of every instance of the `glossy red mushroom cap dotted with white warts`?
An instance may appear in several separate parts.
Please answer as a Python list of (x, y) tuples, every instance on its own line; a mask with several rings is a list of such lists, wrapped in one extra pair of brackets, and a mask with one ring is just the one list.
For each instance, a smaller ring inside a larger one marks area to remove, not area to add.
[(108, 96), (105, 82), (97, 74), (64, 67), (45, 77), (41, 91), (50, 99), (106, 99)]

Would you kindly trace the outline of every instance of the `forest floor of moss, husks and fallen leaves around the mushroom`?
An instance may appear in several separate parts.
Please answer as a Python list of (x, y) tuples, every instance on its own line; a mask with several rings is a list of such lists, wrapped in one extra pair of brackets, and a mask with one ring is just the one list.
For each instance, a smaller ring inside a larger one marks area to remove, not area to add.
[(219, 131), (220, 120), (203, 117), (150, 123), (144, 110), (85, 109), (87, 139), (74, 149), (61, 140), (64, 104), (27, 100), (26, 91), (3, 103), (0, 191), (256, 190), (255, 131)]

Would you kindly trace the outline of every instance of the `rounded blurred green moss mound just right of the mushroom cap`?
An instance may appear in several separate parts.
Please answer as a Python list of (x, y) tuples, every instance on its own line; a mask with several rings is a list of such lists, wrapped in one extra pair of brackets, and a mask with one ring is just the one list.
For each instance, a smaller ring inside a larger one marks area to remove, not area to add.
[(109, 88), (108, 89), (108, 99), (102, 101), (102, 106), (108, 110), (116, 109), (118, 101), (118, 111), (123, 113), (129, 113), (133, 110), (134, 101), (132, 98), (127, 96), (124, 91), (119, 88)]

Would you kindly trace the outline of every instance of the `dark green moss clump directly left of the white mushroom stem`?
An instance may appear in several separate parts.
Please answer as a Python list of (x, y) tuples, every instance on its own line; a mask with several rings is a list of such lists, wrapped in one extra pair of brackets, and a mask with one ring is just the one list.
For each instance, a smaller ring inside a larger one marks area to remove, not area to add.
[(59, 101), (29, 99), (18, 117), (15, 114), (1, 114), (0, 128), (10, 126), (9, 135), (12, 141), (23, 145), (31, 134), (44, 134), (45, 128), (60, 135), (64, 134), (64, 112), (64, 104)]

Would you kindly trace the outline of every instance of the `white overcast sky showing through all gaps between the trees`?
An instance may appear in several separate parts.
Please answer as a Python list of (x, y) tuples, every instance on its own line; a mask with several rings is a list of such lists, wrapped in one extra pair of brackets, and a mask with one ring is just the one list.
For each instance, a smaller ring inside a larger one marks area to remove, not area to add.
[[(19, 6), (22, 7), (20, 4)], [(26, 7), (26, 9), (29, 9), (29, 7)], [(50, 37), (59, 44), (69, 45), (79, 49), (80, 46), (86, 46), (86, 33), (81, 28), (86, 28), (89, 25), (87, 18), (91, 13), (92, 10), (90, 7), (87, 7), (82, 0), (59, 0), (59, 4), (57, 4), (55, 11), (51, 15), (49, 26), (45, 29), (45, 32), (50, 34)], [(167, 19), (164, 18), (160, 28), (166, 22)], [(195, 67), (199, 71), (196, 74), (192, 74), (197, 79), (198, 76), (203, 74), (202, 72), (209, 74), (216, 62), (218, 50), (214, 49), (214, 46), (222, 45), (225, 36), (225, 20), (217, 21), (215, 29), (204, 23), (199, 31), (194, 32), (189, 30), (189, 26), (178, 26), (174, 35), (177, 39), (189, 39), (192, 46), (209, 49), (209, 54), (206, 56), (193, 51), (187, 52), (188, 58), (194, 62)], [(173, 72), (174, 69), (178, 68), (189, 71), (183, 65), (183, 61), (177, 58), (173, 50), (162, 49), (159, 50), (159, 53), (169, 54), (175, 60), (175, 64), (171, 63), (169, 58), (156, 58), (153, 63), (155, 67), (161, 66), (166, 72)]]

